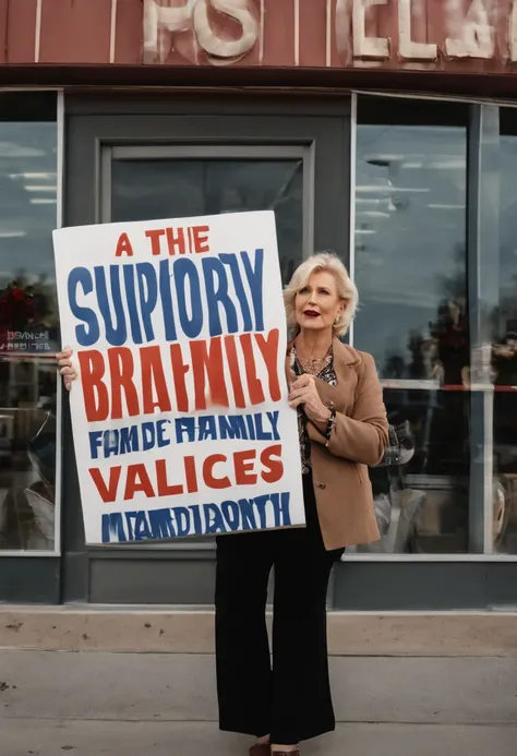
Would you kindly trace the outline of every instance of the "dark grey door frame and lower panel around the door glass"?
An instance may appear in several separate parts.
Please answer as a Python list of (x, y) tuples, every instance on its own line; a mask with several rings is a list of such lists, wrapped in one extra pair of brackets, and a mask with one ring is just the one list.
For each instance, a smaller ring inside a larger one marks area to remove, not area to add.
[[(109, 218), (106, 189), (113, 155), (297, 157), (304, 161), (300, 260), (314, 249), (333, 249), (348, 264), (351, 96), (73, 94), (65, 113), (64, 225)], [(211, 605), (213, 545), (85, 545), (67, 398), (64, 404), (63, 600)]]

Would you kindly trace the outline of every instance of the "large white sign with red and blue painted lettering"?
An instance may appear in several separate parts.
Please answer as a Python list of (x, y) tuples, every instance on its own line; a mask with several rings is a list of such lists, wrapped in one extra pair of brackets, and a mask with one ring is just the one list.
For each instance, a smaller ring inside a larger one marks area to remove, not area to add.
[(86, 541), (303, 525), (274, 214), (53, 242)]

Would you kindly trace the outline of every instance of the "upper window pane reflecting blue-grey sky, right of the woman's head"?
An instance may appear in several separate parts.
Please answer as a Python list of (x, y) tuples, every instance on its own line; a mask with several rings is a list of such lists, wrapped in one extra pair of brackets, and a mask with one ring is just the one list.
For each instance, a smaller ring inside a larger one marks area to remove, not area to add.
[(467, 112), (366, 97), (358, 113), (354, 340), (383, 377), (461, 386)]

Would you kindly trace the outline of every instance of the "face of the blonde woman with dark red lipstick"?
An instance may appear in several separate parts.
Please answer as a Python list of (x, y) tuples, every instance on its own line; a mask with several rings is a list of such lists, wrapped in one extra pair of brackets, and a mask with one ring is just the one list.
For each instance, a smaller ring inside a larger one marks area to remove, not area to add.
[(332, 328), (345, 309), (337, 293), (336, 279), (328, 271), (313, 273), (297, 293), (294, 313), (300, 328), (322, 331)]

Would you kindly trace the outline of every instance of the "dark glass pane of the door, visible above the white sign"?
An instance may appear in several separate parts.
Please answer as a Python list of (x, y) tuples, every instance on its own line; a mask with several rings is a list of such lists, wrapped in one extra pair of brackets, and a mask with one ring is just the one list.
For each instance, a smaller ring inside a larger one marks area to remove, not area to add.
[(302, 160), (113, 160), (111, 220), (275, 211), (287, 283), (303, 249)]

